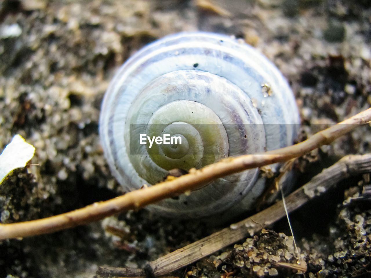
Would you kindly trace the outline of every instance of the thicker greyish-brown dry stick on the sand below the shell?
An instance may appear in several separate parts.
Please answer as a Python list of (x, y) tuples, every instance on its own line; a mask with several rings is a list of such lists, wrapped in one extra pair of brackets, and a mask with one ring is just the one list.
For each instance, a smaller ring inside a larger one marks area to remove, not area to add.
[[(306, 202), (324, 194), (332, 186), (349, 176), (371, 172), (371, 154), (348, 155), (334, 165), (324, 169), (314, 176), (311, 181), (297, 189), (285, 198), (288, 212), (304, 205)], [(233, 244), (246, 236), (252, 236), (260, 231), (262, 226), (268, 226), (284, 217), (285, 209), (282, 201), (269, 208), (230, 225), (214, 234), (206, 236), (183, 248), (171, 252), (149, 263), (155, 276), (168, 274), (199, 259), (211, 255), (221, 248)], [(258, 224), (259, 223), (259, 224)], [(118, 277), (144, 276), (145, 271), (140, 268), (99, 267), (97, 274), (101, 276), (115, 275)]]

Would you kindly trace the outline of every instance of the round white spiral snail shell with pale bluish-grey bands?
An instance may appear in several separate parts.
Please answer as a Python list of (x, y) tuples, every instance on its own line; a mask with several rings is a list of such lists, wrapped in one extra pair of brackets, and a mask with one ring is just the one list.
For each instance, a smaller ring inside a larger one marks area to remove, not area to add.
[[(298, 123), (293, 93), (266, 57), (231, 37), (195, 32), (157, 40), (121, 66), (104, 96), (99, 133), (113, 175), (132, 191), (173, 168), (291, 145)], [(139, 145), (139, 134), (155, 134), (157, 124), (183, 136), (183, 150)], [(151, 209), (196, 218), (244, 197), (251, 206), (264, 188), (257, 176), (252, 169), (220, 178)]]

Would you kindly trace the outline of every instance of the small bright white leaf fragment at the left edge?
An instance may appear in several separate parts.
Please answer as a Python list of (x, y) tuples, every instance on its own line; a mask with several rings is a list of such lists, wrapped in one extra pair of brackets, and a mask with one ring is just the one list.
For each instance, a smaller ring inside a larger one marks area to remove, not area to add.
[(35, 147), (27, 143), (19, 134), (14, 135), (0, 155), (0, 183), (14, 169), (26, 166), (33, 155), (35, 155)]

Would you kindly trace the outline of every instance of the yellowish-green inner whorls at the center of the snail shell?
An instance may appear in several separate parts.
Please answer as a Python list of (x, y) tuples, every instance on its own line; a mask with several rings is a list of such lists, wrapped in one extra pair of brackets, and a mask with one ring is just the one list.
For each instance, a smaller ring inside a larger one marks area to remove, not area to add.
[(170, 136), (170, 144), (155, 144), (151, 148), (147, 144), (153, 162), (165, 170), (198, 168), (228, 153), (224, 143), (227, 134), (219, 117), (209, 107), (191, 100), (175, 100), (161, 106), (148, 123), (147, 135)]

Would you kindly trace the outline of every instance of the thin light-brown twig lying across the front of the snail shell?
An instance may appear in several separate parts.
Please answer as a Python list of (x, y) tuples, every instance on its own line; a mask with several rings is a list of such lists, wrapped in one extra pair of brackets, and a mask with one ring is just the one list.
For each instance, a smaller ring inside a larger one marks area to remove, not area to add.
[(194, 169), (189, 174), (180, 176), (172, 181), (160, 182), (155, 186), (135, 190), (114, 199), (93, 203), (85, 208), (76, 209), (75, 211), (64, 214), (20, 223), (0, 224), (0, 240), (47, 234), (61, 229), (72, 228), (114, 215), (118, 212), (142, 208), (150, 203), (178, 196), (185, 191), (198, 189), (222, 176), (276, 162), (285, 162), (310, 152), (319, 146), (329, 144), (354, 128), (370, 122), (370, 120), (371, 108), (337, 125), (322, 130), (311, 138), (293, 146), (271, 150), (265, 153), (226, 158), (199, 170)]

